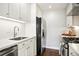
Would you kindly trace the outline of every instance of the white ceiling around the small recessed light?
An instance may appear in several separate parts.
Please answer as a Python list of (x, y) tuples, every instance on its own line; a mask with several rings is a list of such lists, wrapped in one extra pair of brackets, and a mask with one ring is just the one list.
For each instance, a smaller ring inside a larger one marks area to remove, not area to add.
[[(49, 5), (51, 5), (52, 8), (49, 8)], [(65, 9), (66, 8), (67, 3), (39, 3), (38, 6), (43, 11), (48, 11), (48, 10), (61, 10), (61, 9)]]

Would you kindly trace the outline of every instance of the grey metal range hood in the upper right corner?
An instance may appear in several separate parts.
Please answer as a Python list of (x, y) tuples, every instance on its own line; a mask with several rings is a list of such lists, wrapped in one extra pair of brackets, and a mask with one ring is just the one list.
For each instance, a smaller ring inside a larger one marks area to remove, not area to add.
[(69, 16), (79, 16), (79, 3), (72, 4), (72, 10), (68, 14)]

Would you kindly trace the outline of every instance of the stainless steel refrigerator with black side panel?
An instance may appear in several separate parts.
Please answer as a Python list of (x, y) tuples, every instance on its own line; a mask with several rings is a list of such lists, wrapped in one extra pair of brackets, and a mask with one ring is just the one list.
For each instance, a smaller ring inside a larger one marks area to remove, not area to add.
[(46, 21), (36, 17), (37, 56), (41, 56), (46, 46)]

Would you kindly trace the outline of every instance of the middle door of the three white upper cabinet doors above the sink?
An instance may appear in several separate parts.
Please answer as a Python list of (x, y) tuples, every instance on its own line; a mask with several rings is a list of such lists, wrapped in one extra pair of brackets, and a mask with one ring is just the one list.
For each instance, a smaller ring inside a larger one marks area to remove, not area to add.
[(19, 19), (19, 4), (9, 3), (9, 17), (13, 19)]

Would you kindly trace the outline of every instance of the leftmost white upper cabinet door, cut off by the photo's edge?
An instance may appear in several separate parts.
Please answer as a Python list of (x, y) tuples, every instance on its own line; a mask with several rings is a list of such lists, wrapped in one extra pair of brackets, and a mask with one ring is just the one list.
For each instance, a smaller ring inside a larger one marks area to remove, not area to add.
[(0, 16), (8, 17), (8, 3), (0, 3)]

